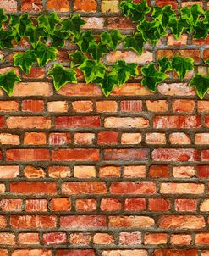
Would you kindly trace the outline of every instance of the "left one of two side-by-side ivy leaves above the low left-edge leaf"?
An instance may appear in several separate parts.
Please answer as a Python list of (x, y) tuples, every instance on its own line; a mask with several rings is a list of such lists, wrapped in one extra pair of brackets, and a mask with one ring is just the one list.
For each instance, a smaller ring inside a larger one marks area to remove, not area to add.
[(36, 55), (33, 50), (27, 50), (25, 53), (14, 54), (14, 66), (18, 66), (25, 72), (30, 73), (30, 69), (36, 61)]

